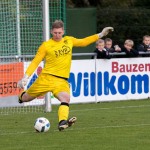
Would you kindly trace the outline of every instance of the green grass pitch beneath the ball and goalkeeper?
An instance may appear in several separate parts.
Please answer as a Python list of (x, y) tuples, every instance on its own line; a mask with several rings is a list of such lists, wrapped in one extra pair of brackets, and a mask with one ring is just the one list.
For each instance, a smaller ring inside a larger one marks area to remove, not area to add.
[[(149, 150), (150, 100), (72, 104), (71, 128), (57, 129), (58, 106), (50, 113), (0, 115), (1, 150)], [(36, 118), (46, 117), (51, 128), (36, 133)]]

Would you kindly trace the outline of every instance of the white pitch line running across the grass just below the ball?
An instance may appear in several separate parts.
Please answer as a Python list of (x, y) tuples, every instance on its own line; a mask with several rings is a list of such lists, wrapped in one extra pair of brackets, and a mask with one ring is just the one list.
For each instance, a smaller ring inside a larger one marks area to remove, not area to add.
[[(93, 127), (86, 127), (86, 128), (70, 128), (66, 129), (65, 131), (78, 131), (78, 130), (91, 130), (91, 129), (106, 129), (106, 128), (128, 128), (128, 127), (143, 127), (143, 126), (150, 126), (150, 124), (126, 124), (126, 125), (114, 125), (114, 126), (93, 126)], [(9, 135), (17, 135), (17, 134), (48, 134), (51, 133), (51, 129), (47, 133), (35, 133), (36, 131), (27, 131), (27, 132), (3, 132), (0, 131), (0, 136), (9, 136)], [(53, 132), (60, 132), (58, 130), (53, 130)]]

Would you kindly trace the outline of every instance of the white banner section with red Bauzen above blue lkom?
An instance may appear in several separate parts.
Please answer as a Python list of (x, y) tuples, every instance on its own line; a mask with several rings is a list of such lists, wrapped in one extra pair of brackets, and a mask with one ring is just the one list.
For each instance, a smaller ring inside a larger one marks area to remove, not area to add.
[(96, 100), (144, 99), (150, 93), (150, 59), (97, 60)]

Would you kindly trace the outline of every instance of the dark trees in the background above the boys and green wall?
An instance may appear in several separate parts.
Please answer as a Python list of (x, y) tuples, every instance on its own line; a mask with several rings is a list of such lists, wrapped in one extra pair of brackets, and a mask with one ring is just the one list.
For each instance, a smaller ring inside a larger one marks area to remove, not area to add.
[(149, 0), (67, 0), (67, 7), (96, 7), (97, 32), (113, 26), (115, 32), (109, 37), (114, 43), (132, 39), (137, 45), (144, 35), (150, 35)]

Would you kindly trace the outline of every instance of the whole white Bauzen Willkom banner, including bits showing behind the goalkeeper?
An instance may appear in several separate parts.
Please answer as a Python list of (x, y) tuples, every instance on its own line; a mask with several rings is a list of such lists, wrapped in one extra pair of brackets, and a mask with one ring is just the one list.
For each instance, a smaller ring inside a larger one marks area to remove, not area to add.
[[(28, 63), (25, 63), (25, 66), (27, 67)], [(42, 67), (43, 63), (31, 76), (28, 87), (37, 78)], [(73, 60), (68, 82), (71, 103), (148, 98), (150, 97), (150, 59)], [(51, 101), (52, 104), (60, 103), (53, 96)]]

